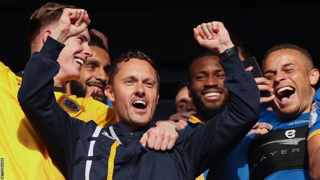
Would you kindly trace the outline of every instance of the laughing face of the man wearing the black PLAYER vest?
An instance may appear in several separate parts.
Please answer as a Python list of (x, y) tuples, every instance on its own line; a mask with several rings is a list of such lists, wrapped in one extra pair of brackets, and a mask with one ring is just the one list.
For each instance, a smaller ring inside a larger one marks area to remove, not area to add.
[(309, 112), (315, 94), (312, 70), (306, 67), (303, 58), (299, 51), (283, 49), (270, 53), (262, 66), (264, 77), (274, 88), (271, 94), (276, 95), (277, 114), (285, 118)]

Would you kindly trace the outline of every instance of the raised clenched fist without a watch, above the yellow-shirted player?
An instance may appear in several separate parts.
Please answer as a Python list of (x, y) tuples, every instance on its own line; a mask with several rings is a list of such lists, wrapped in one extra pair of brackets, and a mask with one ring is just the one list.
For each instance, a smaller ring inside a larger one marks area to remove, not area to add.
[(69, 37), (82, 33), (89, 24), (89, 15), (84, 9), (65, 8), (56, 29), (52, 31), (50, 36), (60, 43), (64, 43)]

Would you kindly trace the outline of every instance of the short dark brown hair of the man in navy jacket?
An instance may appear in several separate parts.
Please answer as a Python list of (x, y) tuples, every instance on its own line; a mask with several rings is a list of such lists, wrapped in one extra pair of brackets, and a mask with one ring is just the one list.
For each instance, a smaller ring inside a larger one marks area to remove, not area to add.
[(157, 81), (158, 81), (158, 90), (159, 90), (160, 78), (158, 73), (158, 67), (155, 61), (153, 61), (149, 56), (147, 56), (145, 53), (142, 53), (139, 50), (126, 52), (126, 53), (120, 54), (115, 58), (110, 69), (108, 85), (113, 86), (114, 78), (120, 69), (120, 63), (127, 62), (130, 59), (139, 59), (141, 61), (147, 61), (153, 67), (153, 69), (156, 71)]

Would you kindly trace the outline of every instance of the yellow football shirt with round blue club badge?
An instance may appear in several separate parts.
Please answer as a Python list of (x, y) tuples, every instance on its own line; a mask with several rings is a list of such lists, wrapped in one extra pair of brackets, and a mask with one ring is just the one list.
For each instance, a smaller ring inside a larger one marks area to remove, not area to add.
[[(17, 99), (21, 79), (0, 62), (0, 158), (3, 158), (3, 177), (8, 180), (65, 179), (21, 110)], [(60, 106), (72, 117), (86, 122), (94, 120), (100, 127), (115, 121), (114, 110), (91, 97), (77, 98), (61, 92), (54, 94)]]

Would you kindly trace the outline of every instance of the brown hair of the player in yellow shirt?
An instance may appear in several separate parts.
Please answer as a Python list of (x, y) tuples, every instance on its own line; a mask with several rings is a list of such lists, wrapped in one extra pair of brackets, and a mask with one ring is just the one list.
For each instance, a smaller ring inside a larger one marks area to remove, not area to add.
[(59, 3), (47, 3), (37, 9), (30, 17), (30, 23), (27, 30), (29, 45), (37, 35), (41, 33), (42, 28), (56, 24), (65, 8), (78, 9), (76, 6)]

